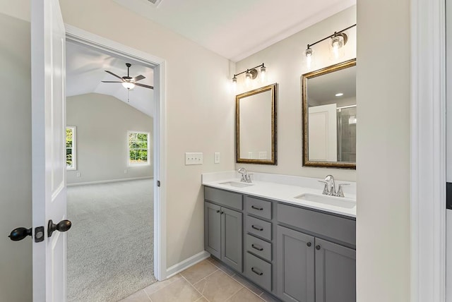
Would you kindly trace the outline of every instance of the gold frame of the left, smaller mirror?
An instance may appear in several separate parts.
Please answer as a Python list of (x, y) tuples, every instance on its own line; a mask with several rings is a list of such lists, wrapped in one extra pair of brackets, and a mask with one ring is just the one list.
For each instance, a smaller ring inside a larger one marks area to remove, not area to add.
[[(242, 164), (277, 164), (277, 152), (276, 152), (276, 86), (277, 84), (271, 84), (265, 87), (258, 88), (256, 90), (251, 90), (249, 92), (244, 92), (235, 97), (235, 123), (236, 123), (236, 136), (235, 142), (237, 146), (237, 163)], [(251, 95), (257, 95), (262, 92), (270, 91), (271, 99), (268, 101), (271, 102), (271, 116), (268, 116), (271, 119), (271, 157), (270, 159), (247, 159), (240, 157), (240, 100), (245, 97), (250, 97)]]

